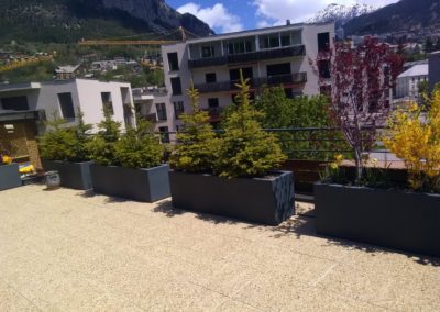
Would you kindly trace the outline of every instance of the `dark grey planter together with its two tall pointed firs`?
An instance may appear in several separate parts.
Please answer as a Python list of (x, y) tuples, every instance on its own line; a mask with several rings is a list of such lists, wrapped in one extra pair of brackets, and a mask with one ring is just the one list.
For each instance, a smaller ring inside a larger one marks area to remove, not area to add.
[(198, 108), (198, 91), (189, 90), (194, 112), (182, 116), (184, 132), (170, 158), (173, 204), (277, 225), (294, 213), (293, 172), (273, 170), (286, 157), (276, 137), (261, 127), (243, 77), (239, 87), (237, 109), (228, 114), (221, 137)]

